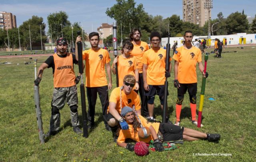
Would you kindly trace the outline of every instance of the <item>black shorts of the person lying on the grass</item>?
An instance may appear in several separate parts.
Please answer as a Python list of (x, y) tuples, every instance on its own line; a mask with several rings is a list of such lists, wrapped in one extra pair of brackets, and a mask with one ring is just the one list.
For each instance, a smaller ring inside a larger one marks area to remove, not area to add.
[(169, 123), (160, 123), (159, 131), (164, 137), (164, 142), (183, 144), (184, 127)]

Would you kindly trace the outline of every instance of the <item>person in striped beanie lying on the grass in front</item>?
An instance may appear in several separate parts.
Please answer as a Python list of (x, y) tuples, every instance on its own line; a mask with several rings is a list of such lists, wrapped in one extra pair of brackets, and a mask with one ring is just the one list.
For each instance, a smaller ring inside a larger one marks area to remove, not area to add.
[[(128, 106), (122, 109), (121, 115), (128, 123), (129, 129), (120, 130), (117, 144), (118, 146), (127, 148), (130, 151), (134, 150), (134, 144), (126, 143), (126, 139), (132, 139), (137, 142), (143, 141), (146, 143), (150, 143), (151, 140), (154, 140), (154, 147), (156, 151), (163, 151), (164, 147), (158, 139), (159, 134), (162, 134), (163, 142), (171, 143), (183, 144), (183, 141), (195, 141), (199, 139), (206, 139), (209, 142), (220, 140), (219, 134), (206, 134), (194, 129), (184, 128), (170, 123), (148, 123), (141, 115), (138, 115), (138, 118), (140, 119), (138, 120), (132, 108)], [(141, 121), (141, 123), (139, 121)], [(148, 138), (141, 138), (138, 136), (140, 124), (142, 124), (143, 127), (148, 127), (150, 129), (151, 135)]]

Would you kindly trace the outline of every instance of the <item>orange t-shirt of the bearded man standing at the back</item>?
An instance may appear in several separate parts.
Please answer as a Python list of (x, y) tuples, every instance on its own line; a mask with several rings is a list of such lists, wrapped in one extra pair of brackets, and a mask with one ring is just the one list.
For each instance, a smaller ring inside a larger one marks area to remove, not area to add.
[(146, 42), (141, 41), (139, 45), (136, 45), (132, 42), (133, 44), (133, 50), (130, 52), (130, 55), (133, 55), (136, 57), (137, 62), (138, 62), (138, 70), (139, 73), (142, 73), (142, 56), (145, 51), (149, 49), (148, 44)]

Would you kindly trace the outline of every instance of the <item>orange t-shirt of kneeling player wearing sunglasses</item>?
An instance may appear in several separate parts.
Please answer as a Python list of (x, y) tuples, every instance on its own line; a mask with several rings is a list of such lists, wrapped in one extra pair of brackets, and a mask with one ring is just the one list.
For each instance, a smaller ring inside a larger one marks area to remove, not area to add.
[[(116, 111), (118, 111), (119, 114), (121, 114), (120, 88), (121, 87), (117, 87), (114, 90), (112, 90), (110, 94), (110, 99), (109, 99), (109, 102), (116, 103)], [(135, 105), (135, 110), (140, 109), (140, 97), (136, 92), (134, 92), (134, 90), (132, 90), (132, 92), (128, 95), (124, 93), (124, 90), (122, 90), (121, 92), (122, 92), (122, 107), (124, 106), (132, 107), (132, 105)], [(108, 107), (108, 111), (109, 111), (109, 107)]]

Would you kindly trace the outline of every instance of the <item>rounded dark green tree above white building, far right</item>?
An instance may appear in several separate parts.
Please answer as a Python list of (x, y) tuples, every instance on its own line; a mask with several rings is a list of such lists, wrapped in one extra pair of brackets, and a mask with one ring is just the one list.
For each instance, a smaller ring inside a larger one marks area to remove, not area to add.
[(228, 34), (244, 33), (248, 30), (249, 23), (246, 15), (235, 12), (227, 17), (226, 27)]

